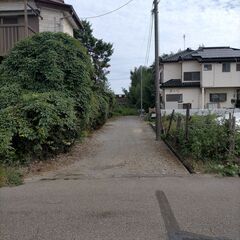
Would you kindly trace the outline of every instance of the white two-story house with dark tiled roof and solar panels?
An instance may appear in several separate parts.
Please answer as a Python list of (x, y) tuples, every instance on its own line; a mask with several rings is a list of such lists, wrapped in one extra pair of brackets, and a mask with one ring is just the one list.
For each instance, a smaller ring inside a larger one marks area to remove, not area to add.
[(165, 109), (240, 108), (240, 49), (188, 48), (160, 64)]

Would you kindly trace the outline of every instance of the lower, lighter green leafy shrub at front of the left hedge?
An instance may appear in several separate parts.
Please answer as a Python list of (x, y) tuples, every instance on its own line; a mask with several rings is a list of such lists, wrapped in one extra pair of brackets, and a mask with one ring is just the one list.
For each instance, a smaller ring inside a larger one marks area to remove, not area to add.
[(62, 152), (78, 133), (74, 101), (58, 92), (25, 94), (0, 119), (0, 159), (8, 164)]

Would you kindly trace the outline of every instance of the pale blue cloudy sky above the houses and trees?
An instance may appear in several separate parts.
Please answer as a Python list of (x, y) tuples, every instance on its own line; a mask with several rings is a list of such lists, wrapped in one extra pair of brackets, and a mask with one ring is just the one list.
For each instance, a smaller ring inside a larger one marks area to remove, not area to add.
[[(111, 11), (127, 0), (65, 0), (80, 18)], [(152, 0), (134, 0), (118, 12), (88, 19), (94, 35), (114, 44), (109, 82), (115, 93), (130, 84), (130, 70), (144, 65)], [(231, 46), (240, 48), (240, 0), (161, 0), (160, 54), (186, 47)], [(154, 60), (152, 47), (149, 63)]]

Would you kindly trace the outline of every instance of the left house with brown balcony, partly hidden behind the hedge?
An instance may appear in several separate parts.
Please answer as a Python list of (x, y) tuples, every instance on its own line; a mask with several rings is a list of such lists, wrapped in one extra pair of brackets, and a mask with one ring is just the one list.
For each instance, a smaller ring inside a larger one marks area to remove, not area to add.
[(16, 42), (35, 33), (64, 32), (73, 36), (73, 29), (81, 27), (74, 8), (64, 0), (1, 0), (0, 57)]

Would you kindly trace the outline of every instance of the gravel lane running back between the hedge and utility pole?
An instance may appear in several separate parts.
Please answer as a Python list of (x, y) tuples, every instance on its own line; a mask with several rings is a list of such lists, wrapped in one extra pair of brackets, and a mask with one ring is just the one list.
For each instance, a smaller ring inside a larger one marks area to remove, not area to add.
[(152, 129), (138, 117), (110, 120), (65, 157), (75, 162), (45, 177), (91, 179), (188, 174), (167, 146), (155, 141)]

